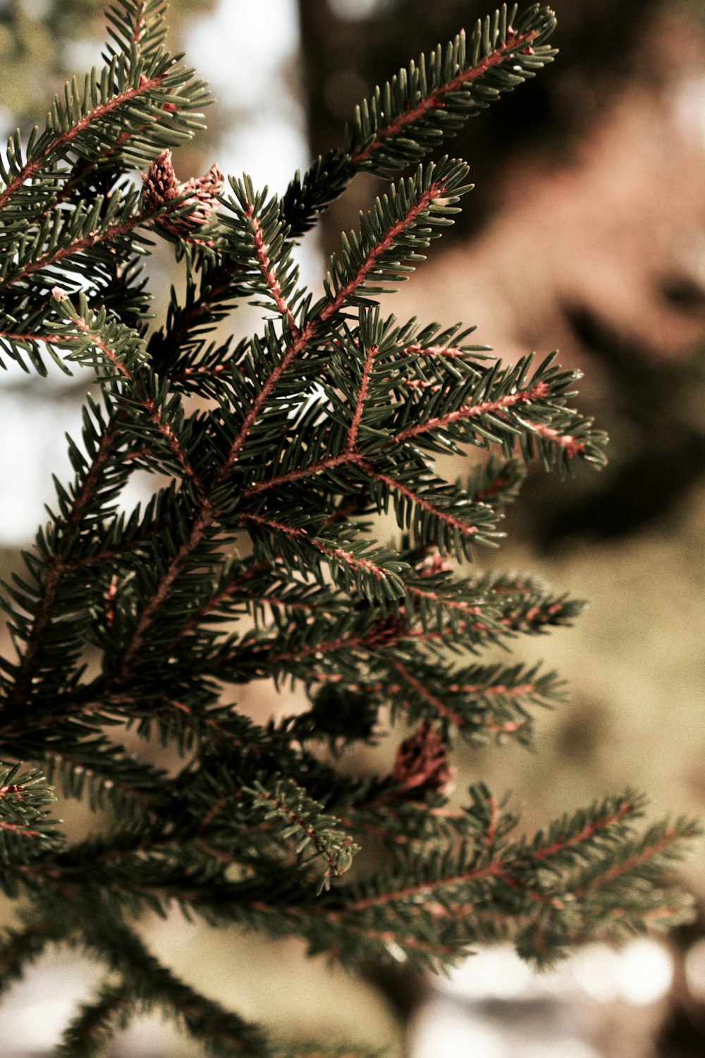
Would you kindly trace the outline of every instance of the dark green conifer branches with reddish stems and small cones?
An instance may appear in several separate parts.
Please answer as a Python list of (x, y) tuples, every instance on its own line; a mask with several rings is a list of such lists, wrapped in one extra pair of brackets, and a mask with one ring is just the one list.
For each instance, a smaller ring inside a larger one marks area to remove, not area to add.
[[(528, 460), (599, 467), (605, 437), (553, 358), (503, 366), (469, 329), (375, 305), (470, 189), (467, 165), (440, 157), (447, 138), (552, 59), (552, 12), (504, 6), (400, 71), (281, 198), (216, 166), (177, 179), (171, 148), (207, 90), (167, 51), (160, 0), (118, 0), (108, 19), (104, 68), (0, 166), (3, 355), (39, 373), (48, 358), (90, 365), (100, 394), (4, 588), (0, 882), (22, 912), (3, 982), (47, 945), (97, 955), (105, 983), (57, 1052), (73, 1058), (154, 1007), (208, 1054), (303, 1055), (161, 965), (140, 914), (180, 907), (346, 965), (431, 968), (503, 937), (545, 965), (682, 920), (664, 872), (694, 827), (639, 829), (632, 791), (534, 837), (482, 783), (448, 802), (453, 742), (530, 742), (535, 708), (561, 696), (553, 673), (485, 649), (579, 610), (531, 577), (478, 571), (475, 545), (501, 535)], [(360, 170), (396, 182), (341, 237), (316, 298), (296, 241)], [(154, 327), (142, 258), (157, 238), (185, 288)], [(261, 331), (222, 338), (242, 303), (264, 309)], [(433, 457), (468, 445), (487, 457), (441, 477)], [(136, 472), (153, 495), (125, 513)], [(392, 544), (375, 539), (384, 511)], [(310, 705), (259, 725), (238, 687), (272, 678), (284, 705), (291, 686)], [(393, 770), (338, 771), (389, 718)], [(135, 732), (180, 766), (130, 753)], [(103, 810), (94, 834), (62, 836), (49, 783)]]

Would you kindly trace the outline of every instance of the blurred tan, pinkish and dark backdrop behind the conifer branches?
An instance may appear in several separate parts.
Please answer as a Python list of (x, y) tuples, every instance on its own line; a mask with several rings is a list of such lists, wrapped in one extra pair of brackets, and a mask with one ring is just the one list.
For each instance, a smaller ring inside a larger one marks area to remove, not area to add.
[[(180, 179), (217, 161), (283, 191), (341, 142), (353, 107), (407, 60), (493, 6), (483, 0), (173, 0), (172, 42), (218, 97)], [(511, 787), (528, 827), (635, 786), (653, 814), (705, 816), (705, 2), (554, 0), (560, 56), (470, 122), (451, 152), (476, 189), (460, 222), (386, 304), (402, 320), (477, 324), (504, 360), (560, 349), (586, 378), (579, 405), (611, 437), (610, 466), (560, 482), (533, 473), (484, 567), (531, 569), (590, 600), (573, 630), (516, 644), (569, 680), (534, 753), (460, 752), (458, 787)], [(99, 61), (104, 0), (0, 0), (0, 133), (41, 122), (64, 78)], [(315, 287), (341, 229), (384, 185), (358, 177), (301, 252)], [(167, 258), (151, 276), (159, 313)], [(246, 329), (240, 316), (238, 326)], [(85, 379), (0, 376), (0, 548), (6, 571), (68, 473)], [(462, 466), (446, 468), (460, 473)], [(266, 715), (292, 703), (257, 700)], [(393, 740), (396, 742), (396, 740)], [(348, 766), (381, 767), (382, 747)], [(550, 782), (546, 781), (550, 777)], [(75, 817), (75, 805), (63, 815)], [(77, 828), (88, 821), (76, 821)], [(502, 948), (448, 980), (403, 967), (346, 974), (296, 942), (146, 923), (194, 985), (299, 1038), (408, 1058), (702, 1058), (705, 860), (681, 869), (703, 909), (667, 941), (592, 946), (536, 977)], [(6, 911), (0, 912), (4, 918)], [(0, 1007), (3, 1058), (43, 1058), (97, 979), (57, 953)], [(143, 1019), (111, 1058), (199, 1054)]]

